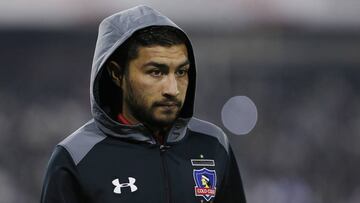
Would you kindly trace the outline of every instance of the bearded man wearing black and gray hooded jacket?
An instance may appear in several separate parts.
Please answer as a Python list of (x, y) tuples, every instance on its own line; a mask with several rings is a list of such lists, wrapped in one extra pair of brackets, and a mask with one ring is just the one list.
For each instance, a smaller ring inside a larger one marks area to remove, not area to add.
[(94, 119), (56, 146), (41, 202), (245, 202), (225, 134), (192, 117), (195, 74), (191, 43), (167, 17), (138, 6), (106, 18)]

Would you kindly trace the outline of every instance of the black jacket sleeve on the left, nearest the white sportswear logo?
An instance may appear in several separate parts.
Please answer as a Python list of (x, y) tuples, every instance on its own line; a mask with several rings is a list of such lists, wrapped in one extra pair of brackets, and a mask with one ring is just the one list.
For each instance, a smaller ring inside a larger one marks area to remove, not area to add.
[(84, 202), (81, 194), (75, 164), (67, 150), (57, 146), (48, 163), (40, 202), (80, 203)]

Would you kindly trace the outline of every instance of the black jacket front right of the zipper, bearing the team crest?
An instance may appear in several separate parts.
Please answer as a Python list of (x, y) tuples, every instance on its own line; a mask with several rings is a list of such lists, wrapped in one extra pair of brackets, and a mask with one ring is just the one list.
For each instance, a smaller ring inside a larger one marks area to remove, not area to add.
[(216, 149), (171, 148), (166, 160), (172, 202), (212, 202), (223, 179), (221, 156)]

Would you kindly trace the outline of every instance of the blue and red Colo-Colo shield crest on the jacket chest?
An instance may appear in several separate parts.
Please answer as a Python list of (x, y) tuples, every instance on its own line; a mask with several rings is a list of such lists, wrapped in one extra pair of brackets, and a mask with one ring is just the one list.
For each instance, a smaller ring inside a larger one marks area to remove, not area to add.
[(215, 197), (216, 193), (216, 172), (203, 168), (193, 171), (195, 181), (195, 196), (203, 197), (206, 201), (210, 201)]

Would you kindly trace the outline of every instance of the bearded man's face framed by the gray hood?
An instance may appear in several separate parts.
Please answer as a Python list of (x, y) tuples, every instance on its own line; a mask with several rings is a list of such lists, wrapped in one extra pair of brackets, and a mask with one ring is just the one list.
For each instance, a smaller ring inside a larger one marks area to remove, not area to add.
[(139, 47), (122, 81), (123, 114), (153, 127), (171, 125), (185, 100), (189, 67), (184, 44)]

